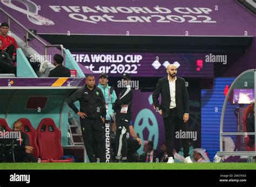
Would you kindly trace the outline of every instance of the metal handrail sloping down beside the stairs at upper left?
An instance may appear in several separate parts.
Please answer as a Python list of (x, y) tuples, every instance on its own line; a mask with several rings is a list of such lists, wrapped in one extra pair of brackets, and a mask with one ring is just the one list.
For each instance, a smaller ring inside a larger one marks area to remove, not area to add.
[(44, 55), (46, 56), (48, 54), (47, 49), (50, 47), (58, 47), (60, 48), (60, 52), (61, 55), (63, 56), (64, 54), (64, 47), (63, 45), (60, 44), (56, 44), (56, 45), (48, 45), (45, 44), (44, 41), (41, 40), (41, 38), (39, 38), (37, 35), (35, 35), (34, 33), (32, 33), (28, 28), (26, 28), (24, 25), (22, 25), (21, 23), (19, 23), (18, 20), (16, 20), (14, 17), (12, 17), (11, 15), (9, 15), (8, 12), (6, 12), (5, 10), (3, 10), (2, 8), (0, 8), (0, 11), (2, 11), (7, 17), (8, 17), (8, 24), (9, 24), (9, 28), (11, 28), (11, 20), (13, 20), (16, 24), (18, 24), (19, 26), (21, 26), (25, 31), (26, 31), (26, 37), (25, 37), (25, 42), (26, 42), (26, 47), (29, 47), (29, 34), (32, 35), (32, 37), (34, 37), (37, 41), (39, 41), (43, 46), (44, 46)]

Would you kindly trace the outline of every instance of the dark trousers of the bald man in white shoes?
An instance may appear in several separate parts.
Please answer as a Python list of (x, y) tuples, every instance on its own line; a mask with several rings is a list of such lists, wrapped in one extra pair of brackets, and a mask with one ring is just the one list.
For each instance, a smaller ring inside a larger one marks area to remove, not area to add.
[[(174, 139), (174, 129), (183, 131), (187, 131), (187, 124), (184, 123), (183, 119), (180, 119), (177, 115), (176, 108), (169, 110), (169, 116), (164, 118), (164, 129), (165, 129), (165, 143), (167, 148), (168, 157), (173, 157), (173, 139)], [(181, 139), (184, 157), (189, 156), (188, 152), (190, 150), (188, 146), (188, 139)]]

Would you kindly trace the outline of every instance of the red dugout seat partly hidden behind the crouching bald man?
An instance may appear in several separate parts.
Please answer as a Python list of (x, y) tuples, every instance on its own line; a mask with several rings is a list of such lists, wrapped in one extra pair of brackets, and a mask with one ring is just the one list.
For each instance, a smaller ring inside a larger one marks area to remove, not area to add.
[(35, 128), (33, 128), (29, 119), (20, 118), (18, 120), (22, 122), (22, 132), (28, 134), (28, 136), (29, 136), (30, 146), (32, 146), (34, 148), (32, 151), (32, 154), (37, 159), (39, 157), (39, 148), (37, 145), (37, 132), (36, 132)]

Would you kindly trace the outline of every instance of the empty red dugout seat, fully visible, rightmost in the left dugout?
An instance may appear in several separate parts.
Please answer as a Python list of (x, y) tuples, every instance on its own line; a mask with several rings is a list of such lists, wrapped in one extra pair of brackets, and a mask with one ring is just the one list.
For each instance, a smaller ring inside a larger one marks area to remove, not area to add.
[(38, 146), (40, 158), (51, 162), (72, 162), (70, 159), (61, 160), (63, 148), (61, 145), (61, 132), (51, 118), (44, 118), (37, 127)]

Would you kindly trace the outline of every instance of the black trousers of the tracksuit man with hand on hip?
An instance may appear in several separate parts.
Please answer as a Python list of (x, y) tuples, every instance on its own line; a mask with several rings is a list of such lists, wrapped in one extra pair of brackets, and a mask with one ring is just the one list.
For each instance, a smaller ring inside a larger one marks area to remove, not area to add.
[[(80, 118), (81, 130), (84, 146), (90, 162), (95, 162), (95, 155), (99, 157), (99, 162), (106, 161), (105, 133), (102, 119), (82, 119)], [(96, 146), (93, 146), (95, 140)], [(94, 151), (95, 150), (95, 151)]]

